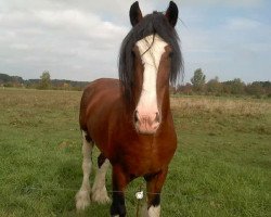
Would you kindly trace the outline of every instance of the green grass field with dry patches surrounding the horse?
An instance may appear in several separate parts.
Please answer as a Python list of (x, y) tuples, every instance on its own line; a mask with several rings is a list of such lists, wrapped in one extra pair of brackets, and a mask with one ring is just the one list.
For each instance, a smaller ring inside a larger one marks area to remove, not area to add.
[[(75, 210), (80, 95), (0, 90), (0, 216), (108, 216), (109, 204)], [(162, 216), (271, 216), (271, 101), (173, 97), (171, 104), (179, 144)], [(129, 217), (142, 183), (127, 189)]]

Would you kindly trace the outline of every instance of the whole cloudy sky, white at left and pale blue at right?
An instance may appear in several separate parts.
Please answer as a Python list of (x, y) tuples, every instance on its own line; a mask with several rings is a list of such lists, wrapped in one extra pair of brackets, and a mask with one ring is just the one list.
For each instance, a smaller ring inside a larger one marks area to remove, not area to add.
[[(24, 79), (117, 77), (130, 0), (0, 0), (0, 73)], [(168, 1), (141, 0), (143, 14)], [(176, 0), (184, 81), (201, 67), (207, 79), (271, 80), (270, 0)]]

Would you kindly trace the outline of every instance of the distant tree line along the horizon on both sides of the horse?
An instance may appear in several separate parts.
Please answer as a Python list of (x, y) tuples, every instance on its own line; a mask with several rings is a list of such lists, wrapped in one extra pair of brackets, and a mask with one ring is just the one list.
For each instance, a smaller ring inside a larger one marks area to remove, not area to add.
[[(44, 71), (40, 79), (24, 80), (18, 76), (9, 76), (0, 74), (0, 86), (16, 87), (16, 88), (35, 88), (35, 89), (53, 89), (53, 90), (82, 90), (89, 82), (73, 81), (64, 79), (51, 79), (49, 71)], [(206, 81), (202, 68), (194, 72), (191, 82), (185, 85), (178, 85), (172, 88), (173, 93), (181, 94), (210, 94), (210, 95), (254, 95), (256, 98), (268, 97), (271, 98), (271, 82), (270, 81), (254, 81), (245, 84), (240, 78), (228, 81), (219, 81), (215, 77)]]

